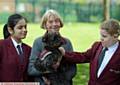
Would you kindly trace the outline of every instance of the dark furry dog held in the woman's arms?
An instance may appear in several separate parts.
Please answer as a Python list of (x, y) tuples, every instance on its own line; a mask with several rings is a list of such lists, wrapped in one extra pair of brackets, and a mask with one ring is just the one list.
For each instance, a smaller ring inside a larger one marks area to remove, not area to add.
[(57, 70), (53, 65), (60, 63), (62, 59), (62, 54), (58, 50), (58, 47), (63, 45), (65, 42), (60, 34), (56, 32), (46, 33), (43, 36), (42, 41), (44, 43), (45, 50), (37, 58), (35, 67), (43, 73), (52, 73)]

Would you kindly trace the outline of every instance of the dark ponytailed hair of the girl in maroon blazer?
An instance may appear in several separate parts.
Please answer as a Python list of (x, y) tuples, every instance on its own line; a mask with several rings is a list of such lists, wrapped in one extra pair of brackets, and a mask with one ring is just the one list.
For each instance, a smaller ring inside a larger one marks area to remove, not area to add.
[(8, 38), (10, 36), (10, 33), (8, 31), (8, 27), (10, 27), (12, 30), (14, 30), (15, 25), (19, 22), (19, 20), (25, 19), (27, 22), (26, 18), (21, 16), (20, 14), (13, 14), (8, 17), (7, 24), (4, 25), (3, 27), (3, 36), (4, 39)]

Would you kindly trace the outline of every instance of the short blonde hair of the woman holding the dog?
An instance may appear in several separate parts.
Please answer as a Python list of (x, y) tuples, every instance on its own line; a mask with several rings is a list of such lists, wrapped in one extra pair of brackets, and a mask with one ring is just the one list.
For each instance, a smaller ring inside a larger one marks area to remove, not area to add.
[(46, 29), (45, 25), (47, 20), (50, 18), (50, 16), (54, 16), (54, 18), (57, 18), (60, 21), (60, 27), (63, 27), (63, 21), (60, 15), (55, 10), (50, 9), (50, 10), (47, 10), (42, 17), (41, 28)]

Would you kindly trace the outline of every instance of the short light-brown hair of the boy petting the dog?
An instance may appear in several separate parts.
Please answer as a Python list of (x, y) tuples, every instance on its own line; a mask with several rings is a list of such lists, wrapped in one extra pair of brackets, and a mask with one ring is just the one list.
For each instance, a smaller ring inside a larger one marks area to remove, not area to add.
[(106, 20), (101, 24), (101, 29), (106, 30), (110, 35), (120, 34), (119, 21), (115, 19)]

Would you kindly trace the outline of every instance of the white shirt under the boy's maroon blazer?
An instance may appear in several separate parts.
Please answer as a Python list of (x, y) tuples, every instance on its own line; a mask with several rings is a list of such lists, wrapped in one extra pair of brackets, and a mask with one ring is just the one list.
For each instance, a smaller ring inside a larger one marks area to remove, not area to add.
[(102, 61), (102, 64), (101, 64), (100, 68), (98, 69), (97, 77), (100, 76), (100, 74), (102, 73), (102, 71), (104, 70), (104, 68), (106, 67), (106, 65), (110, 61), (110, 59), (112, 58), (113, 54), (117, 50), (118, 46), (119, 46), (119, 42), (117, 42), (114, 45), (108, 47), (108, 50), (105, 52), (105, 57)]

